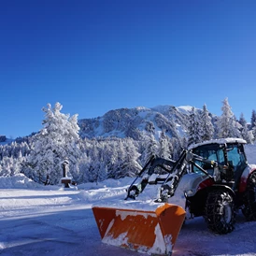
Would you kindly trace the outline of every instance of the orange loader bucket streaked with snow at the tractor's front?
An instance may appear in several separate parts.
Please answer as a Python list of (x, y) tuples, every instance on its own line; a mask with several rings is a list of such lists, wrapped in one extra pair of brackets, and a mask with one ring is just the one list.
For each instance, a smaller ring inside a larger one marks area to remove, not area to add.
[(102, 241), (139, 252), (171, 253), (185, 219), (182, 207), (165, 204), (155, 210), (92, 207)]

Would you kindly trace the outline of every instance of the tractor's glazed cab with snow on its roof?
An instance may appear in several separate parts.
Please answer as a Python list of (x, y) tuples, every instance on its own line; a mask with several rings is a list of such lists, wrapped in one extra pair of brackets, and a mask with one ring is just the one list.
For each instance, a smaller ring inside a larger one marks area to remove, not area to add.
[[(234, 183), (236, 186), (244, 169), (248, 165), (244, 151), (246, 141), (240, 138), (227, 138), (209, 140), (204, 143), (195, 144), (190, 147), (192, 153), (217, 162), (220, 169), (220, 181)], [(210, 176), (214, 176), (214, 166), (200, 161), (195, 161)], [(193, 173), (200, 173), (200, 169), (192, 164)]]

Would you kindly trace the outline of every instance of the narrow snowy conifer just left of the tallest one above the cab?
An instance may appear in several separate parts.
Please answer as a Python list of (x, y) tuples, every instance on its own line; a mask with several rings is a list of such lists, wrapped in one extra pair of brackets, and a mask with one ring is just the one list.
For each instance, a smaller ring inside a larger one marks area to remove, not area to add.
[(209, 140), (213, 138), (214, 127), (211, 122), (211, 117), (209, 116), (209, 112), (207, 110), (206, 104), (203, 107), (203, 111), (200, 115), (201, 120), (201, 141)]

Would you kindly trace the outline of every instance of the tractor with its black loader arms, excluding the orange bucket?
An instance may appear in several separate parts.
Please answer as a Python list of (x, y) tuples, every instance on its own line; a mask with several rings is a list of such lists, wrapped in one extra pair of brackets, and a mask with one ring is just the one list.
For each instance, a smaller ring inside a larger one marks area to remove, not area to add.
[[(238, 209), (247, 220), (256, 220), (256, 165), (248, 164), (244, 144), (240, 138), (216, 139), (183, 150), (176, 162), (152, 157), (127, 198), (135, 199), (148, 184), (162, 183), (156, 202), (171, 203), (180, 184), (190, 218), (204, 216), (213, 232), (232, 232)], [(155, 176), (161, 168), (167, 175)]]

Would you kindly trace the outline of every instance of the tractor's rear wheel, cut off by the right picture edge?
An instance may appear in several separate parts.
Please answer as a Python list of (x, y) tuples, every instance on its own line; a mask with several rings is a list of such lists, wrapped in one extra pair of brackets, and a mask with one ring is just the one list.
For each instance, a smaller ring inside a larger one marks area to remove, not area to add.
[(256, 172), (249, 177), (242, 212), (247, 220), (256, 220)]

